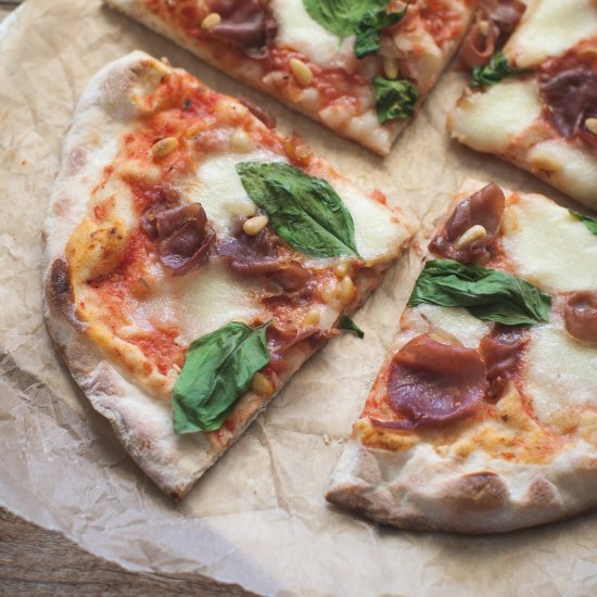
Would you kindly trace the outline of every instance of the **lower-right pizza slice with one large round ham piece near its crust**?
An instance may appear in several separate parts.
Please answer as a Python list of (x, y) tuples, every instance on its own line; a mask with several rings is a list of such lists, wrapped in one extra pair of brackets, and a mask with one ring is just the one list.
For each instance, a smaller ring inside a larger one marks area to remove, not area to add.
[(327, 498), (494, 533), (597, 505), (597, 219), (467, 181)]

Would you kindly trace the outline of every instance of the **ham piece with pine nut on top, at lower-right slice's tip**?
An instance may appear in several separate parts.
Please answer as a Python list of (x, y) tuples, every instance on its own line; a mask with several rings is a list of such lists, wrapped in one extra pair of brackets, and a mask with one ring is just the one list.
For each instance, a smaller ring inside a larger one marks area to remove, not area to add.
[(501, 189), (495, 182), (487, 185), (456, 206), (430, 249), (463, 264), (488, 257), (487, 247), (499, 232), (505, 205)]

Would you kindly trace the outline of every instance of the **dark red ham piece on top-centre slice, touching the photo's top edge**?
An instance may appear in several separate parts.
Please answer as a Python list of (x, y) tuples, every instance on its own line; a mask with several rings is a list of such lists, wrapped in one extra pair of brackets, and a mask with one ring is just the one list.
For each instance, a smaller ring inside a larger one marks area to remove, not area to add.
[(211, 37), (240, 48), (251, 58), (262, 59), (268, 54), (278, 25), (263, 0), (211, 0), (209, 8), (220, 17), (216, 23), (216, 17), (207, 15), (214, 23), (208, 23), (206, 30)]

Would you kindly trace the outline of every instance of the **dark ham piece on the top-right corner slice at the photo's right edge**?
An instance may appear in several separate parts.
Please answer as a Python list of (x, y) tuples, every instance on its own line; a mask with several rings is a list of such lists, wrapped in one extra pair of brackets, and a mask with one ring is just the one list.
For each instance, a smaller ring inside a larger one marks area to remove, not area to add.
[(597, 135), (586, 126), (587, 120), (597, 117), (597, 73), (577, 67), (545, 75), (539, 92), (561, 135), (597, 144)]

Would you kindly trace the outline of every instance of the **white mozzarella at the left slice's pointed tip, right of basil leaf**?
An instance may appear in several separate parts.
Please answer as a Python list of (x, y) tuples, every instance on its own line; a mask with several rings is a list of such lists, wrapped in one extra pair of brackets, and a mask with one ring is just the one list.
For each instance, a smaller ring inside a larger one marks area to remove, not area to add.
[(352, 185), (340, 181), (333, 186), (353, 216), (359, 255), (366, 261), (397, 255), (408, 232), (392, 212)]

